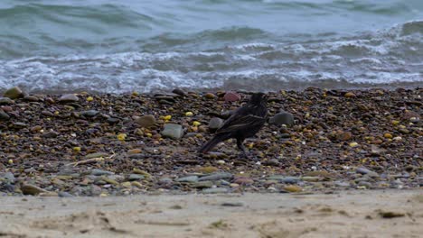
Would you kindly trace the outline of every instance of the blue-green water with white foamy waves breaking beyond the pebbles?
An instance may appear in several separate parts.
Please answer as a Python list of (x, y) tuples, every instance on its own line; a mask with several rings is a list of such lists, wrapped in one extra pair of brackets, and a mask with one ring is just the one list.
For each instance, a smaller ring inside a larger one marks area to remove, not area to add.
[(3, 0), (0, 91), (423, 85), (422, 0)]

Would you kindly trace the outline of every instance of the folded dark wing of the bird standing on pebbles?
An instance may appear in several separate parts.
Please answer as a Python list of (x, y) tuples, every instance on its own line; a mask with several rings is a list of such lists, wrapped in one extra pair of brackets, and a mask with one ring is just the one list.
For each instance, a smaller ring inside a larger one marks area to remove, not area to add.
[(230, 133), (240, 129), (249, 130), (250, 126), (264, 124), (266, 117), (253, 114), (230, 117), (216, 133)]

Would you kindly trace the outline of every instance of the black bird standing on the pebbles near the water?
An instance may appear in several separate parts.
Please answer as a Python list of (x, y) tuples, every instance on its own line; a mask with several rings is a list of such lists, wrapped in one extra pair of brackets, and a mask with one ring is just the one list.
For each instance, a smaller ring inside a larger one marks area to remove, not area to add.
[(230, 138), (237, 139), (237, 146), (243, 155), (248, 158), (247, 151), (242, 142), (246, 138), (254, 136), (266, 123), (268, 115), (267, 104), (268, 96), (264, 93), (255, 93), (249, 99), (246, 105), (238, 108), (216, 131), (214, 137), (202, 145), (199, 152), (206, 153), (210, 151), (219, 142)]

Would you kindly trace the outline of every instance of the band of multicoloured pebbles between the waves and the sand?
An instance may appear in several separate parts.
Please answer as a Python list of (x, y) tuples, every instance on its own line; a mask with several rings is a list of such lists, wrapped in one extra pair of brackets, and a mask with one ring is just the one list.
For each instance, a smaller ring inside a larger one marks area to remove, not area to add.
[[(249, 93), (228, 102), (224, 91), (174, 92), (0, 98), (0, 196), (423, 185), (421, 88), (268, 93), (270, 116), (284, 110), (294, 121), (267, 124), (246, 141), (253, 160), (242, 160), (230, 141), (205, 156), (195, 152), (212, 136), (211, 119), (227, 117)], [(165, 124), (181, 126), (171, 129), (177, 136), (165, 134)]]

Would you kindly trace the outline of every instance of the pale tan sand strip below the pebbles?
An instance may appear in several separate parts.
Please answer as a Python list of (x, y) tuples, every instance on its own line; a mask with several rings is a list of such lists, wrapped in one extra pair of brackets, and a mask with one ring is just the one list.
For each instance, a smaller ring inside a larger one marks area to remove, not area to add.
[(423, 190), (2, 197), (0, 224), (0, 237), (421, 237)]

